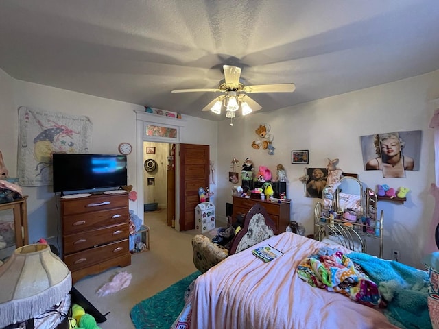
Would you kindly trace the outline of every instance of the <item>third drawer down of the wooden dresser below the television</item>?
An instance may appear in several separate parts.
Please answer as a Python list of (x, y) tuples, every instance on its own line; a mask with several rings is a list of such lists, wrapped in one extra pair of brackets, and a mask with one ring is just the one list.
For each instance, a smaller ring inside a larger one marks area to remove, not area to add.
[(65, 235), (63, 243), (64, 254), (72, 254), (95, 245), (103, 245), (104, 243), (126, 239), (128, 235), (128, 223)]

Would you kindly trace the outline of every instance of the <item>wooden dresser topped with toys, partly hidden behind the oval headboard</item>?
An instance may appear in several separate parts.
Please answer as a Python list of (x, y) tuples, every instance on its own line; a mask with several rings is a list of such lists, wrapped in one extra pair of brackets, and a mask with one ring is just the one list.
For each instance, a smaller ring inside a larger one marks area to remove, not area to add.
[(258, 200), (258, 199), (248, 199), (245, 197), (233, 197), (233, 221), (235, 221), (236, 216), (241, 213), (246, 215), (248, 210), (254, 206), (254, 204), (261, 204), (270, 215), (272, 221), (276, 225), (278, 230), (277, 234), (285, 232), (289, 224), (289, 203), (283, 202), (278, 204), (276, 202)]

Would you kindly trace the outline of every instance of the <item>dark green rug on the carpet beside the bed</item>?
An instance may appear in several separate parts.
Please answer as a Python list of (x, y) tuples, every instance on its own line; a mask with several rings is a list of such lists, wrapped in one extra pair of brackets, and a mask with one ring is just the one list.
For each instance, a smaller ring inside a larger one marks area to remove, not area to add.
[(131, 310), (132, 323), (136, 329), (169, 329), (185, 306), (185, 291), (200, 271), (156, 293), (156, 295), (134, 305)]

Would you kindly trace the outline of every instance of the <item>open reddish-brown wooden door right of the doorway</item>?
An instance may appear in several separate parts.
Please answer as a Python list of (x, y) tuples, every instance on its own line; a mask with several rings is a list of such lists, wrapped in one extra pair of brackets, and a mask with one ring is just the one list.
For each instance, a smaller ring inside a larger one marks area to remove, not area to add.
[(209, 187), (209, 145), (180, 144), (180, 231), (195, 228), (198, 188)]

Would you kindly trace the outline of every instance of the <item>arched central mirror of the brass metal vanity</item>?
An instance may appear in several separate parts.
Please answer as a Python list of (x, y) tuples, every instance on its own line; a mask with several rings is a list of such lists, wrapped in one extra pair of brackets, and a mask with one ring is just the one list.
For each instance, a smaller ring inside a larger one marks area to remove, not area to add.
[(357, 212), (357, 215), (363, 215), (363, 204), (361, 196), (363, 193), (363, 184), (357, 178), (345, 176), (340, 180), (340, 185), (335, 193), (335, 208), (337, 212), (343, 212), (348, 208)]

